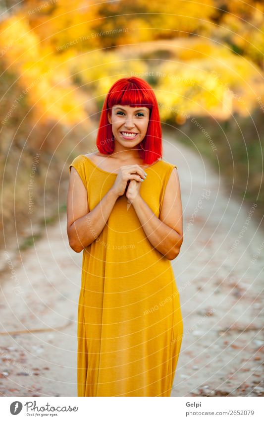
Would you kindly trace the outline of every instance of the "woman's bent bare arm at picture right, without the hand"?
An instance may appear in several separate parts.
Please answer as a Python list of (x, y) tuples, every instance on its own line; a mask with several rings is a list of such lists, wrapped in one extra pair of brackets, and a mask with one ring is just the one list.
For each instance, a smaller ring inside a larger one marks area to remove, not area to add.
[(183, 242), (182, 203), (176, 168), (167, 182), (159, 218), (140, 194), (133, 199), (132, 205), (151, 244), (167, 259), (175, 259)]

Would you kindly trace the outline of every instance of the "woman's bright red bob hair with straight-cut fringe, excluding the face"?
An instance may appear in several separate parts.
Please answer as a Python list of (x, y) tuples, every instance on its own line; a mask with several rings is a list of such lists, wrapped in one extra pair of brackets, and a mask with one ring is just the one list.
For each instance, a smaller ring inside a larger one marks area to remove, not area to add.
[(138, 145), (139, 155), (144, 163), (151, 165), (162, 157), (161, 124), (158, 113), (158, 102), (152, 87), (139, 77), (124, 77), (117, 80), (106, 95), (103, 105), (96, 145), (102, 154), (111, 154), (114, 150), (112, 127), (107, 119), (113, 105), (147, 107), (150, 118), (146, 136)]

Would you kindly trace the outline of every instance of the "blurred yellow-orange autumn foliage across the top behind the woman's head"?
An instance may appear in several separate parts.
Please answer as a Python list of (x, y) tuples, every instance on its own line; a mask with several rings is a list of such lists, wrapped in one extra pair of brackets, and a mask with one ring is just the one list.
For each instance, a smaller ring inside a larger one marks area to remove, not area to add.
[(0, 23), (1, 59), (40, 120), (87, 120), (131, 75), (153, 85), (163, 120), (245, 115), (264, 93), (263, 12), (260, 1), (25, 0)]

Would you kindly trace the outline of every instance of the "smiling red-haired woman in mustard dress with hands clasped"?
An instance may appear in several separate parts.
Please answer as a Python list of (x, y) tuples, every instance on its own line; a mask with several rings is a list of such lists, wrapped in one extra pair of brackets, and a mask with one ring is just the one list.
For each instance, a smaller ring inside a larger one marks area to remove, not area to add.
[(67, 234), (83, 250), (78, 396), (170, 396), (183, 332), (170, 263), (183, 241), (182, 205), (177, 167), (159, 159), (146, 81), (110, 88), (97, 147), (69, 166)]

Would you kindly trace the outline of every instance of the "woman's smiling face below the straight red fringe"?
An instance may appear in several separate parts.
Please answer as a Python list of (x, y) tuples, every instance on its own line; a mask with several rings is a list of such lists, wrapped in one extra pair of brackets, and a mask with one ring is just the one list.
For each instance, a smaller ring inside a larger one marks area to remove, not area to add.
[(146, 136), (150, 110), (147, 107), (114, 105), (108, 121), (112, 124), (115, 140), (125, 147), (138, 145)]

